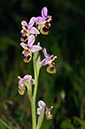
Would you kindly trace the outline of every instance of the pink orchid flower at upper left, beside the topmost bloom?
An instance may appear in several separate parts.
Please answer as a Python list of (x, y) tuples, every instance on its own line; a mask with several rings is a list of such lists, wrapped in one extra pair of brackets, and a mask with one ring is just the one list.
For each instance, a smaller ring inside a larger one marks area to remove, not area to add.
[(22, 25), (22, 30), (21, 30), (21, 41), (25, 42), (28, 40), (28, 37), (30, 34), (40, 34), (40, 32), (37, 30), (36, 27), (33, 27), (34, 25), (34, 19), (35, 17), (32, 17), (29, 21), (29, 23), (27, 24), (26, 21), (22, 21), (21, 25)]

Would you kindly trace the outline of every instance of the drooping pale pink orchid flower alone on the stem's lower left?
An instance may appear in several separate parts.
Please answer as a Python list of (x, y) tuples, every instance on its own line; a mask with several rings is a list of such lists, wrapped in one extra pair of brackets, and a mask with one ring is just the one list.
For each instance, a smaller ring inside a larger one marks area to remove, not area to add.
[(18, 92), (19, 92), (20, 95), (24, 95), (24, 93), (25, 93), (25, 90), (26, 90), (25, 81), (26, 82), (31, 81), (31, 85), (34, 85), (35, 84), (35, 80), (32, 79), (32, 76), (31, 75), (25, 75), (23, 78), (21, 78), (20, 76), (18, 76), (18, 79), (19, 79), (19, 82), (18, 82), (18, 84), (19, 84), (19, 86), (18, 86), (19, 90), (18, 90)]

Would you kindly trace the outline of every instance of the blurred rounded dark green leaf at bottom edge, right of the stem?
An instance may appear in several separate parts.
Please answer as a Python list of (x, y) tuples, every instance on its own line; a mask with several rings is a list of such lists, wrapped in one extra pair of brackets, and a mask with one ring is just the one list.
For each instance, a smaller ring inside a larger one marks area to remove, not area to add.
[(69, 119), (64, 120), (64, 121), (61, 123), (60, 127), (61, 127), (62, 129), (76, 129), (76, 128), (71, 124), (71, 121), (70, 121)]

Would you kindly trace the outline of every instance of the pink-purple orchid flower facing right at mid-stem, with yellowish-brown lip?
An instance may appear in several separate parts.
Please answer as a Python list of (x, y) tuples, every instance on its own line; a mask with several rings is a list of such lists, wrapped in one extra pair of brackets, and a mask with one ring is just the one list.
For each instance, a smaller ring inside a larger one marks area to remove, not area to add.
[(47, 54), (45, 48), (43, 49), (43, 53), (45, 58), (40, 62), (40, 65), (45, 66), (48, 64), (49, 66), (47, 67), (47, 72), (50, 74), (56, 73), (55, 63), (53, 61), (57, 58), (57, 56), (50, 56)]

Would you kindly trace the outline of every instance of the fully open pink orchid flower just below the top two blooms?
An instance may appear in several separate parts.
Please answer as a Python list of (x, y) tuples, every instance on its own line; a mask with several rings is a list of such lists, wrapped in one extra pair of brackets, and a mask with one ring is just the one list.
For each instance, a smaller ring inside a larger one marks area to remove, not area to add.
[(24, 62), (28, 63), (31, 58), (32, 58), (32, 53), (35, 53), (37, 51), (40, 51), (42, 49), (41, 46), (39, 45), (33, 45), (33, 43), (35, 42), (35, 36), (34, 35), (30, 35), (28, 38), (28, 43), (20, 43), (20, 45), (24, 48), (24, 51), (22, 52), (22, 54), (24, 55)]

